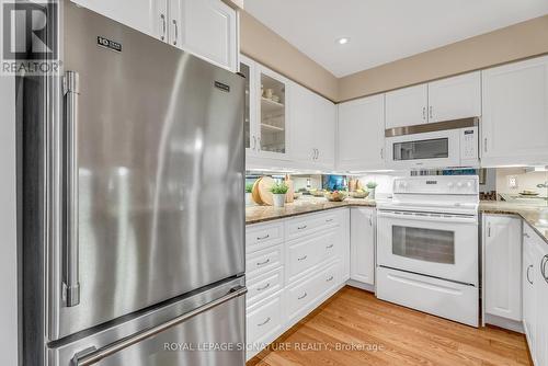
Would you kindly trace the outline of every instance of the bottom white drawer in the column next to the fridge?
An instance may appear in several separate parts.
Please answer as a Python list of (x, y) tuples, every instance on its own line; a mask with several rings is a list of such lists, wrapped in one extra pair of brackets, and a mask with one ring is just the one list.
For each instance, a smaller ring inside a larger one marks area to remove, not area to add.
[(282, 330), (282, 299), (283, 294), (279, 291), (247, 309), (247, 344), (255, 348), (254, 351), (260, 343), (272, 342)]

